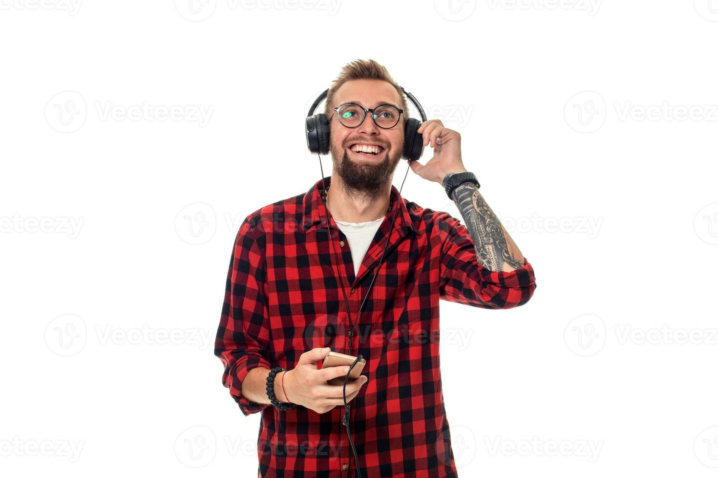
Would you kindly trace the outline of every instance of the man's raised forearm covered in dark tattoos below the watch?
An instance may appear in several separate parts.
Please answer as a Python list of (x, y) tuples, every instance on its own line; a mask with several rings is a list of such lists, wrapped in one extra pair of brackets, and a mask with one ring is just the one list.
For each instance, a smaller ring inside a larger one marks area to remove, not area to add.
[[(444, 178), (444, 184), (449, 176), (451, 173)], [(523, 267), (521, 251), (486, 204), (476, 185), (463, 183), (454, 189), (452, 196), (474, 240), (479, 264), (492, 271), (504, 272)]]

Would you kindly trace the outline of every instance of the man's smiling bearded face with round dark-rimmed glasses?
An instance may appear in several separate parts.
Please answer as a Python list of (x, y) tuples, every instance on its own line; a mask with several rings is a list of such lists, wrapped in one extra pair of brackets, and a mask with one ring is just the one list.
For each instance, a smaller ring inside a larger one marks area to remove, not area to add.
[[(337, 107), (356, 103), (365, 108), (389, 104), (401, 108), (401, 97), (396, 89), (382, 80), (352, 80), (342, 85), (335, 95)], [(391, 129), (379, 128), (366, 113), (356, 128), (342, 125), (335, 112), (330, 118), (330, 152), (334, 171), (348, 188), (363, 193), (378, 193), (391, 176), (404, 152), (404, 114)], [(356, 145), (378, 145), (376, 155), (352, 150)]]

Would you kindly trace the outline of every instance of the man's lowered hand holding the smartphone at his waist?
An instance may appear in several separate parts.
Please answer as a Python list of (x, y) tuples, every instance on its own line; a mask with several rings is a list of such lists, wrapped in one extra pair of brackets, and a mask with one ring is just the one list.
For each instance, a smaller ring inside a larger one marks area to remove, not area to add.
[[(317, 362), (324, 360), (329, 353), (328, 347), (317, 347), (299, 356), (297, 366), (284, 373), (284, 398), (292, 403), (297, 403), (316, 411), (317, 414), (324, 414), (337, 405), (344, 405), (342, 390), (343, 385), (330, 385), (327, 380), (335, 377), (345, 376), (349, 371), (349, 365), (338, 365), (336, 367), (317, 368)], [(281, 377), (278, 377), (281, 383)], [(366, 376), (347, 381), (347, 403), (353, 400), (359, 393), (359, 388), (368, 381)], [(276, 387), (275, 387), (276, 388)], [(276, 393), (276, 391), (275, 391)]]

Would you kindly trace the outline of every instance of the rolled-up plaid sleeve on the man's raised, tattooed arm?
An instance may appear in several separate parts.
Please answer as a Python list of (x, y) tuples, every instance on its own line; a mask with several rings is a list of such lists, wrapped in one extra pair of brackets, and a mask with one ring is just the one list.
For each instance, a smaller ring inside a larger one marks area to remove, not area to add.
[(526, 304), (536, 290), (533, 267), (491, 271), (479, 264), (474, 242), (466, 226), (442, 214), (437, 219), (442, 236), (439, 298), (486, 309), (509, 309)]

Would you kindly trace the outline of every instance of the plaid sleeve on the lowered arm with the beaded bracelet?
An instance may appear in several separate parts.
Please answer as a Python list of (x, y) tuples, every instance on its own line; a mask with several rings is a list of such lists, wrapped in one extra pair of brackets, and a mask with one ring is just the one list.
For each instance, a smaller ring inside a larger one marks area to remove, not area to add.
[(269, 404), (255, 403), (242, 395), (244, 378), (253, 368), (271, 368), (269, 309), (264, 290), (266, 260), (248, 219), (241, 224), (234, 244), (215, 340), (215, 355), (225, 367), (222, 383), (246, 416)]

